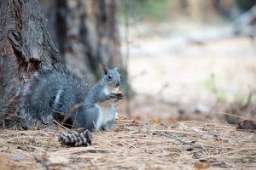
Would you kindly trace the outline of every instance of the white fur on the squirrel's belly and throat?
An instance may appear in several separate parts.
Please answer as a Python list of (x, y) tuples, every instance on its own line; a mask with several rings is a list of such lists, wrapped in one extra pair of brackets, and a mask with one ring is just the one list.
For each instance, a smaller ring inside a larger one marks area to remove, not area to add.
[[(112, 91), (117, 91), (119, 88), (112, 88), (112, 87), (108, 87), (108, 88), (104, 88), (103, 89), (103, 93), (105, 94), (109, 94)], [(99, 129), (100, 127), (102, 127), (102, 125), (105, 125), (109, 119), (112, 117), (111, 114), (111, 109), (110, 109), (110, 105), (111, 105), (111, 100), (105, 101), (105, 102), (98, 102), (96, 104), (96, 107), (99, 109), (99, 117), (98, 120), (96, 122), (96, 127)]]

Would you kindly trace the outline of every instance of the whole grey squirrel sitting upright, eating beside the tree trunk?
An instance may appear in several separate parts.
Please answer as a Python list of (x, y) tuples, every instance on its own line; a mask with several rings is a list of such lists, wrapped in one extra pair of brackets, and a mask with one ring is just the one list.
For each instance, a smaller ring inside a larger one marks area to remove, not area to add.
[(89, 86), (87, 78), (65, 65), (43, 66), (23, 90), (20, 117), (28, 127), (49, 127), (53, 119), (61, 122), (67, 118), (70, 127), (110, 130), (116, 119), (113, 100), (124, 96), (113, 93), (119, 90), (119, 71), (106, 65), (102, 69), (102, 79)]

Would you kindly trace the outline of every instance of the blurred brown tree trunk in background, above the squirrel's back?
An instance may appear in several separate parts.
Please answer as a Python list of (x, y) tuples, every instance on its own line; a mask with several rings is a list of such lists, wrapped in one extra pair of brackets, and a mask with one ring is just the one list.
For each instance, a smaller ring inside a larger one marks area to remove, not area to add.
[(118, 66), (124, 71), (119, 53), (116, 0), (41, 0), (40, 3), (63, 62), (90, 79), (99, 77), (100, 64)]

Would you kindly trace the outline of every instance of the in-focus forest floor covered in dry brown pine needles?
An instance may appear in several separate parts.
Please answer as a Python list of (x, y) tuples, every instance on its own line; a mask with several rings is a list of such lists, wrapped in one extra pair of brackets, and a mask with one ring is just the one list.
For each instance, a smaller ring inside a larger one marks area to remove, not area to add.
[(89, 147), (67, 147), (64, 129), (1, 130), (0, 169), (254, 169), (255, 132), (223, 123), (137, 122), (120, 118), (93, 133)]

